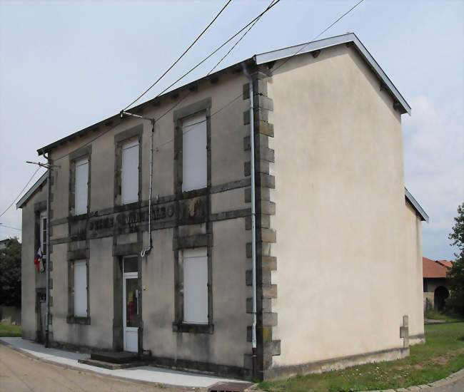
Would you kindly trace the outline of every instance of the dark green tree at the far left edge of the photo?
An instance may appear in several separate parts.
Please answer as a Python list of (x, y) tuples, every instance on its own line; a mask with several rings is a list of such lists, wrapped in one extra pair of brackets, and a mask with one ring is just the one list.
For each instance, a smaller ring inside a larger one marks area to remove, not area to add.
[(21, 306), (21, 244), (10, 238), (0, 249), (0, 304)]

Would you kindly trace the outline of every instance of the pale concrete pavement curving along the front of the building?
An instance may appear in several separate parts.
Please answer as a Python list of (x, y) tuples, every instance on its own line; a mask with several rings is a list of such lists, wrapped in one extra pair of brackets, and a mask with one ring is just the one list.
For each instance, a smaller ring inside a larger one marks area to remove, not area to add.
[[(11, 348), (22, 351), (30, 356), (42, 359), (49, 363), (56, 363), (61, 366), (73, 368), (77, 371), (98, 373), (106, 376), (123, 378), (128, 381), (143, 381), (146, 383), (163, 384), (168, 386), (181, 386), (187, 388), (208, 388), (218, 382), (243, 382), (230, 378), (215, 376), (205, 376), (196, 373), (183, 371), (173, 371), (169, 369), (156, 368), (153, 366), (140, 366), (136, 368), (109, 370), (96, 366), (89, 366), (79, 363), (79, 359), (89, 358), (89, 354), (80, 354), (57, 349), (46, 349), (41, 344), (27, 341), (22, 338), (0, 338), (1, 341), (11, 346)], [(34, 390), (35, 391), (35, 390)], [(89, 389), (91, 391), (91, 389)]]

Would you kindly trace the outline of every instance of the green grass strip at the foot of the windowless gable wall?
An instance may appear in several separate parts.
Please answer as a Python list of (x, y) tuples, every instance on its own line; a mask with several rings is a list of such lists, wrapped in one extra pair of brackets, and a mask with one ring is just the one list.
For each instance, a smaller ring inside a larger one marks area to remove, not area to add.
[(464, 323), (425, 326), (425, 344), (410, 347), (398, 361), (353, 366), (342, 371), (260, 383), (271, 392), (339, 392), (401, 388), (437, 381), (464, 368)]

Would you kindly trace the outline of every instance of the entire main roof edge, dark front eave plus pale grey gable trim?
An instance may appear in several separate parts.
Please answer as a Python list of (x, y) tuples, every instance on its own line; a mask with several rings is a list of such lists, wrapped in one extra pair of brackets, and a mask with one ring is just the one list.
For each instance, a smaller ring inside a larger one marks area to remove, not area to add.
[[(365, 48), (363, 43), (361, 43), (361, 41), (355, 35), (355, 33), (346, 33), (341, 36), (333, 36), (329, 38), (320, 39), (318, 41), (302, 43), (301, 45), (289, 46), (288, 48), (282, 48), (276, 51), (256, 54), (253, 57), (248, 58), (244, 61), (240, 61), (239, 63), (235, 63), (232, 66), (223, 68), (221, 71), (217, 71), (207, 76), (203, 76), (203, 78), (199, 78), (196, 81), (192, 81), (190, 83), (187, 83), (186, 85), (168, 91), (167, 93), (164, 93), (161, 96), (152, 98), (151, 100), (147, 100), (146, 102), (141, 103), (140, 105), (134, 106), (130, 110), (132, 113), (140, 113), (141, 110), (143, 110), (143, 108), (146, 108), (148, 105), (156, 105), (159, 101), (169, 96), (176, 98), (176, 95), (178, 95), (178, 93), (181, 93), (181, 91), (196, 88), (196, 86), (198, 86), (199, 83), (203, 83), (204, 81), (213, 81), (214, 79), (217, 80), (218, 76), (223, 73), (241, 71), (241, 64), (243, 62), (247, 63), (248, 65), (260, 65), (263, 63), (281, 60), (282, 58), (290, 58), (292, 56), (296, 56), (302, 53), (318, 51), (323, 48), (340, 45), (342, 43), (353, 43), (354, 48), (358, 51), (358, 53), (360, 53), (360, 56), (368, 63), (368, 65), (370, 66), (372, 71), (378, 76), (378, 78), (380, 78), (380, 81), (382, 81), (383, 83), (383, 87), (387, 89), (390, 92), (390, 94), (392, 94), (392, 96), (395, 98), (395, 108), (398, 108), (398, 110), (400, 110), (400, 113), (402, 114), (408, 113), (410, 115), (410, 105), (408, 105), (403, 96), (401, 96), (400, 92), (395, 88), (388, 76), (385, 74), (385, 72), (383, 72), (382, 68), (380, 68), (377, 61), (375, 61), (373, 56), (370, 55), (368, 50)], [(71, 133), (71, 135), (67, 135), (64, 138), (56, 140), (54, 143), (39, 148), (39, 150), (37, 150), (37, 153), (39, 153), (39, 155), (42, 155), (47, 151), (51, 150), (52, 148), (55, 148), (59, 145), (64, 145), (68, 141), (72, 141), (77, 137), (84, 136), (90, 132), (95, 132), (99, 130), (102, 126), (116, 125), (116, 123), (120, 121), (122, 121), (120, 118), (120, 114), (117, 113), (109, 118), (106, 118), (105, 120), (101, 120), (99, 123), (90, 125), (89, 127), (78, 130), (75, 133)]]

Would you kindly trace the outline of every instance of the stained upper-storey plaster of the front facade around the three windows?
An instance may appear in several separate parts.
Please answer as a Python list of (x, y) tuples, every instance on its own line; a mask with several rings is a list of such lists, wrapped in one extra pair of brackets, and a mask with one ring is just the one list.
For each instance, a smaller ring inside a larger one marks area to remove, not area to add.
[[(174, 123), (173, 111), (211, 97), (211, 184), (221, 185), (226, 182), (241, 180), (244, 177), (243, 163), (249, 160), (249, 151), (243, 150), (243, 137), (248, 135), (248, 127), (243, 125), (243, 111), (247, 102), (242, 98), (242, 86), (247, 79), (242, 74), (221, 76), (220, 83), (202, 83), (198, 91), (183, 92), (172, 100), (163, 100), (161, 105), (148, 106), (141, 115), (149, 118), (160, 118), (156, 122), (153, 155), (153, 197), (173, 194), (174, 167)], [(178, 103), (180, 101), (180, 103)], [(76, 138), (51, 152), (55, 165), (54, 192), (52, 202), (54, 219), (69, 215), (69, 153), (90, 143), (91, 153), (91, 212), (99, 211), (114, 205), (114, 135), (123, 130), (143, 124), (142, 135), (142, 200), (148, 200), (149, 163), (151, 124), (136, 118), (126, 118), (123, 123), (102, 125), (96, 132)], [(235, 196), (233, 197), (235, 198)], [(237, 200), (228, 202), (240, 207), (244, 205), (243, 195)]]

